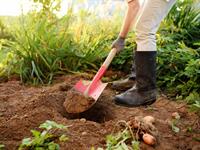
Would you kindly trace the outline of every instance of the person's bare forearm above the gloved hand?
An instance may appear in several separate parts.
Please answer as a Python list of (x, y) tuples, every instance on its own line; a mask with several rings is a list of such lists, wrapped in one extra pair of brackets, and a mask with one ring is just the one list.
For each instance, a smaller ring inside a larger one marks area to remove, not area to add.
[(123, 25), (122, 25), (120, 34), (119, 34), (120, 37), (126, 38), (128, 32), (132, 26), (132, 23), (134, 22), (134, 20), (137, 16), (139, 7), (140, 7), (140, 5), (139, 5), (138, 0), (132, 0), (128, 3), (128, 9), (127, 9), (124, 21), (123, 21)]

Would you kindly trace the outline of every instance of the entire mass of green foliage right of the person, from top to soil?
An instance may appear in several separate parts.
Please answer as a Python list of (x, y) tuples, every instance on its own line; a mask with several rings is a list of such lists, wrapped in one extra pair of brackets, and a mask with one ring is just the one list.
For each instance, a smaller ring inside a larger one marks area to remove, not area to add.
[[(197, 104), (200, 95), (200, 9), (196, 0), (177, 1), (157, 34), (158, 86)], [(196, 106), (196, 105), (195, 105)], [(200, 110), (200, 109), (198, 109)]]

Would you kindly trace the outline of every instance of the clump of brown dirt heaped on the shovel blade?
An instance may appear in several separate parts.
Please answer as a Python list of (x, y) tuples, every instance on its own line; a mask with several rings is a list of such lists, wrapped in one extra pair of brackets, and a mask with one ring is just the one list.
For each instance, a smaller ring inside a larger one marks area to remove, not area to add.
[(71, 89), (67, 91), (67, 96), (63, 106), (68, 113), (81, 113), (88, 110), (95, 100), (91, 97), (85, 97), (83, 93)]

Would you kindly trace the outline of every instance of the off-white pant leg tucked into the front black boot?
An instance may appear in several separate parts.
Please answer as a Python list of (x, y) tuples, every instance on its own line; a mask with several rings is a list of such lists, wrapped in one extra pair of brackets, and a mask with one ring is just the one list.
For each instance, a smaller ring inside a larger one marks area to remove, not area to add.
[(146, 0), (137, 21), (137, 51), (156, 51), (156, 32), (176, 0)]

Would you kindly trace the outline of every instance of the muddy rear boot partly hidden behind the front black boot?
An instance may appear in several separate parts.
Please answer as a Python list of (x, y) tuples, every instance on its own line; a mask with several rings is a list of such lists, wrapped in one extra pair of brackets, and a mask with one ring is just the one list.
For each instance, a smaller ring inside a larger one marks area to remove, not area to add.
[[(133, 57), (133, 62), (134, 59), (135, 58)], [(112, 83), (112, 89), (119, 91), (126, 91), (131, 87), (133, 87), (133, 85), (135, 84), (135, 78), (136, 78), (135, 63), (133, 63), (131, 68), (131, 73), (125, 79), (114, 81)]]

